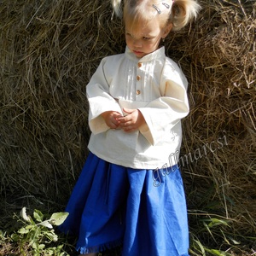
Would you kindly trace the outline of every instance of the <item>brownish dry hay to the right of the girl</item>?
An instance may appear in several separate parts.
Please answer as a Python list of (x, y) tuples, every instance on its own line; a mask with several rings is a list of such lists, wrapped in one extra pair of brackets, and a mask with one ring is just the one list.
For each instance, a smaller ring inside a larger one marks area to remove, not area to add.
[[(204, 195), (197, 199), (192, 192), (190, 203), (193, 209), (201, 206), (202, 211), (236, 219), (236, 227), (252, 236), (256, 230), (256, 5), (212, 1), (203, 3), (203, 8), (201, 19), (188, 31), (190, 37), (175, 44), (184, 52), (181, 63), (190, 79), (192, 109), (184, 121), (184, 153), (194, 153), (194, 162), (186, 168), (188, 189), (193, 191), (190, 186), (195, 183), (195, 191)], [(210, 189), (214, 192), (206, 194)]]

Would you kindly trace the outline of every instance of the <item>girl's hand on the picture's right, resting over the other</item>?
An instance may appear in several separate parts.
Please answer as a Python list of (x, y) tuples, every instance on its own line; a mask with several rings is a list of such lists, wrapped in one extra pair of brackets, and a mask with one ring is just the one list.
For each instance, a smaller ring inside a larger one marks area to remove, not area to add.
[(124, 131), (131, 132), (136, 131), (139, 126), (146, 123), (143, 114), (138, 109), (123, 108), (125, 113), (128, 113), (124, 117), (119, 117), (119, 127)]

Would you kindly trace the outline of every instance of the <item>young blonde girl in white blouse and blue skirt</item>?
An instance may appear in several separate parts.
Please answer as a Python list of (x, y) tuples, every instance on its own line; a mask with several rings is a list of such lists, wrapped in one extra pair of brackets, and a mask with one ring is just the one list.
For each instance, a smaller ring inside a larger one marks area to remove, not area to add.
[(188, 84), (160, 42), (199, 9), (193, 0), (125, 0), (127, 47), (104, 58), (86, 87), (90, 154), (61, 227), (79, 237), (80, 255), (119, 245), (123, 256), (189, 255), (177, 166)]

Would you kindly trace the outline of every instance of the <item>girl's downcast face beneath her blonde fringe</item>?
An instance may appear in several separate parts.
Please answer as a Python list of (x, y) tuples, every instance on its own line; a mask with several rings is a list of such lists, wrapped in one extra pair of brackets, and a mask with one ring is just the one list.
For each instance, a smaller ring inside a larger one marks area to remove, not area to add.
[(166, 38), (171, 29), (172, 24), (162, 28), (158, 16), (144, 21), (135, 29), (129, 26), (129, 22), (125, 22), (125, 41), (137, 58), (142, 58), (158, 49), (161, 38)]

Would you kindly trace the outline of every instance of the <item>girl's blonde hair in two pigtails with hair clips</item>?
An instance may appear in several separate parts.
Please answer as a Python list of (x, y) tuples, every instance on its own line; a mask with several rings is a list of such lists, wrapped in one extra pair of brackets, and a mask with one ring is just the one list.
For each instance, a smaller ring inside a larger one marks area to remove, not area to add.
[[(122, 0), (111, 2), (114, 12), (120, 17)], [(159, 15), (163, 26), (172, 23), (172, 31), (177, 31), (195, 19), (200, 9), (201, 6), (195, 0), (124, 0), (123, 16), (130, 23), (137, 23)]]

